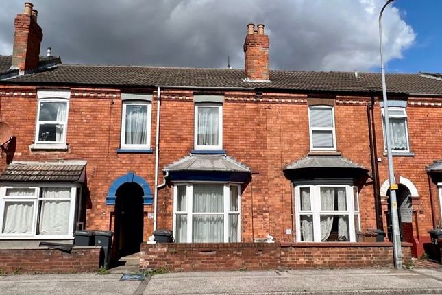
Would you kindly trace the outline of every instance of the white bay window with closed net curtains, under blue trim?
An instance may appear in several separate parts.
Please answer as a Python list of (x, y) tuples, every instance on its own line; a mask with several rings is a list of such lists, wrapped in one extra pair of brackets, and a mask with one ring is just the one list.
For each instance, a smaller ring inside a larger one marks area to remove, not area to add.
[(240, 186), (183, 183), (173, 189), (173, 233), (177, 243), (240, 241)]

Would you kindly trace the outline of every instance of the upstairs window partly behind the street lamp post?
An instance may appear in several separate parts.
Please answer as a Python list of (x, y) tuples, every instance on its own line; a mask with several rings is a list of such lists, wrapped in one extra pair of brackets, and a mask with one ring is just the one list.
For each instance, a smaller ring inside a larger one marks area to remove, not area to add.
[[(389, 119), (391, 128), (391, 150), (393, 152), (409, 152), (408, 127), (406, 109), (401, 107), (389, 107)], [(382, 126), (384, 128), (384, 148), (386, 150), (386, 128), (384, 121), (384, 108), (382, 108)]]

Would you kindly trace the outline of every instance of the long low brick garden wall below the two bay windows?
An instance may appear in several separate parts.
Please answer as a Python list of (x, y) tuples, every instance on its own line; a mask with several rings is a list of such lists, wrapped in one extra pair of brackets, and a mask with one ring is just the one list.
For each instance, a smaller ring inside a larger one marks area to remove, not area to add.
[[(403, 244), (404, 261), (411, 244)], [(140, 269), (171, 272), (393, 266), (391, 243), (142, 244)]]

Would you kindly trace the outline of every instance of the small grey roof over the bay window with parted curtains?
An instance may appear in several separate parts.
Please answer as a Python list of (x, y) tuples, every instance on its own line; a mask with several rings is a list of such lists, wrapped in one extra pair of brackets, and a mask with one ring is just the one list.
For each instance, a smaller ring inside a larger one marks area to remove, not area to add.
[(306, 168), (349, 168), (367, 170), (362, 165), (353, 163), (343, 156), (306, 156), (298, 161), (286, 165), (284, 170), (306, 169)]

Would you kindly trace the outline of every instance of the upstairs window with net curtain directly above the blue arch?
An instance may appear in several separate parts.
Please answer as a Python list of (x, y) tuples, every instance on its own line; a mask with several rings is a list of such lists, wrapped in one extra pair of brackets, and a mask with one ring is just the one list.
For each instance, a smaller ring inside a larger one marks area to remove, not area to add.
[(150, 118), (150, 102), (123, 102), (123, 119), (121, 120), (121, 148), (150, 148)]

